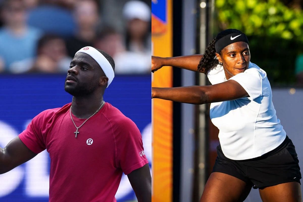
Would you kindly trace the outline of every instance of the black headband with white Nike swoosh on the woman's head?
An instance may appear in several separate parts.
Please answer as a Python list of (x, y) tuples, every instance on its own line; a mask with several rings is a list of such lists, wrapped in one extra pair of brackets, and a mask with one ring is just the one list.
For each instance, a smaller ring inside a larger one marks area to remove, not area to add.
[(248, 39), (246, 37), (245, 34), (243, 33), (231, 33), (228, 34), (224, 37), (222, 37), (221, 39), (219, 39), (216, 43), (215, 43), (215, 49), (217, 53), (220, 53), (220, 51), (225, 48), (226, 46), (228, 46), (229, 44), (235, 43), (235, 42), (239, 42), (239, 41), (243, 41), (246, 42), (248, 44)]

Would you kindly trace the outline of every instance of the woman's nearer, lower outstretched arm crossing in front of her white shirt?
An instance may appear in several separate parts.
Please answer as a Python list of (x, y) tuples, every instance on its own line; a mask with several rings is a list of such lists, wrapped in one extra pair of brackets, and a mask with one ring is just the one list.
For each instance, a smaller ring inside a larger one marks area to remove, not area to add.
[(205, 104), (235, 100), (248, 96), (244, 88), (234, 80), (207, 86), (176, 88), (152, 88), (152, 98), (160, 98), (189, 104)]

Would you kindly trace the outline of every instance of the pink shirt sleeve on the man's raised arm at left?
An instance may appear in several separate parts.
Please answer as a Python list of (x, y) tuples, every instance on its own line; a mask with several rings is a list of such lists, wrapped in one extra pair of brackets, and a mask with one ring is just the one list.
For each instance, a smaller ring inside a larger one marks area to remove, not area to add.
[(21, 141), (36, 154), (45, 149), (45, 142), (41, 133), (45, 113), (46, 111), (43, 111), (34, 117), (27, 128), (19, 134)]

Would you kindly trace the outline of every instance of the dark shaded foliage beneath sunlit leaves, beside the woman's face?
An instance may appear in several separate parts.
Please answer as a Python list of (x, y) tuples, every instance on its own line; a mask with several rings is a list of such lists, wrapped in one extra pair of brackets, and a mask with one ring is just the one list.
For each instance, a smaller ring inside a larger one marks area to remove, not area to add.
[(295, 84), (295, 59), (302, 43), (259, 36), (249, 36), (248, 40), (251, 62), (266, 71), (271, 84)]

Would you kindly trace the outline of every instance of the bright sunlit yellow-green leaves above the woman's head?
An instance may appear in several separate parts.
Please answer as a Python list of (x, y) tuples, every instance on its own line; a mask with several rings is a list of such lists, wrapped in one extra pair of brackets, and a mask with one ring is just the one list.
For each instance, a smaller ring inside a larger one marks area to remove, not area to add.
[(221, 29), (303, 42), (303, 12), (278, 0), (216, 0)]

